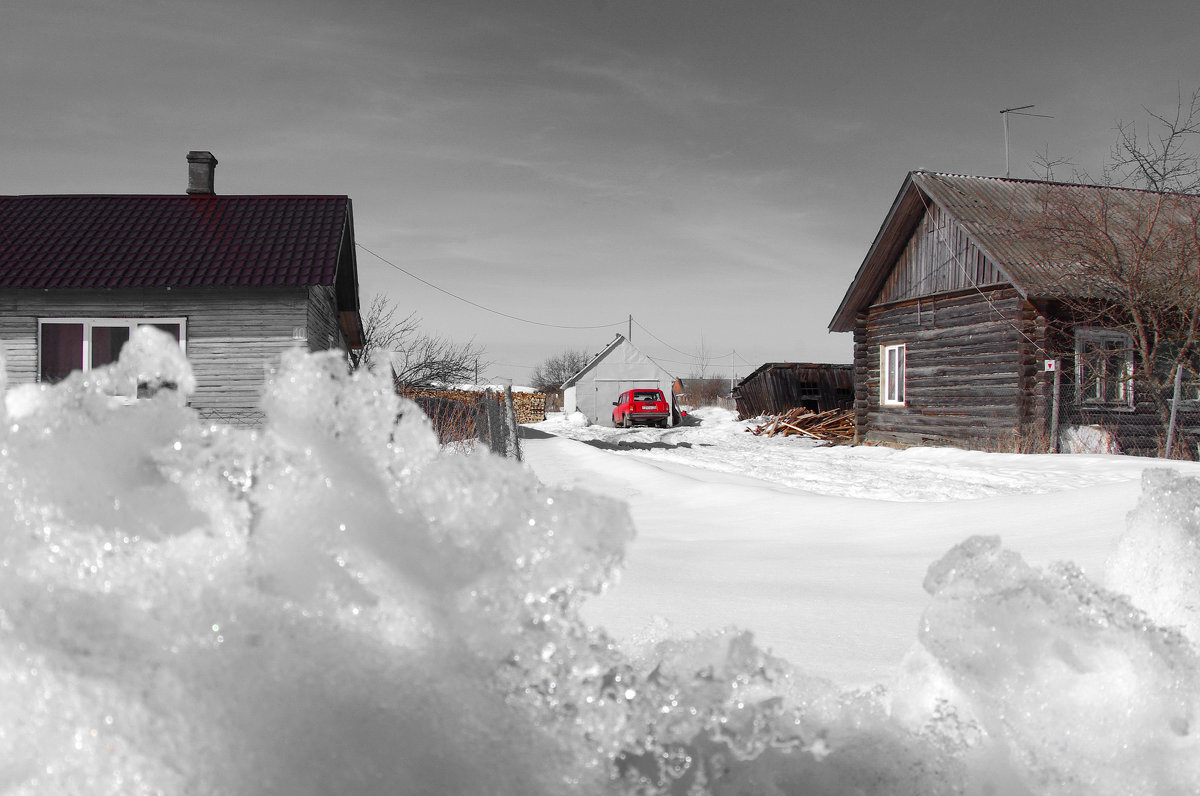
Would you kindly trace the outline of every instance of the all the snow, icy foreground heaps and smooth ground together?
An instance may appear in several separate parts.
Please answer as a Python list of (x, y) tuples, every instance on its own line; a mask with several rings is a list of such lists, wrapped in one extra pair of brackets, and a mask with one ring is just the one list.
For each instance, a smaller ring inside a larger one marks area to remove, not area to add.
[(518, 465), (332, 353), (262, 430), (193, 385), (148, 328), (0, 403), (5, 794), (1200, 792), (1200, 480), (1157, 462), (702, 412)]

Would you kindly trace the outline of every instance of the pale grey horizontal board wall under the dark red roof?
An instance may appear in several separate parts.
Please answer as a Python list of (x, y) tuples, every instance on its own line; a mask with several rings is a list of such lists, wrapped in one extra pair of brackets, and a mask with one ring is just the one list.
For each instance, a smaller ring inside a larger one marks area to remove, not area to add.
[(181, 316), (197, 381), (192, 406), (206, 418), (256, 424), (266, 369), (305, 345), (305, 334), (320, 347), (328, 339), (310, 325), (328, 312), (310, 311), (308, 299), (306, 288), (7, 291), (0, 292), (0, 341), (8, 381), (20, 384), (37, 381), (38, 318)]

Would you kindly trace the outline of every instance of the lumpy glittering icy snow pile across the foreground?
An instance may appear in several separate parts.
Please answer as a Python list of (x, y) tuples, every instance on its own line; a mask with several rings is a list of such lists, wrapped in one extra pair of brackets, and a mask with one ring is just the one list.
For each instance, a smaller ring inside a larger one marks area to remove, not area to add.
[[(116, 369), (186, 390), (138, 334)], [(624, 508), (440, 455), (335, 357), (284, 359), (262, 432), (90, 377), (13, 390), (0, 431), (4, 792), (1200, 788), (1194, 481), (1147, 478), (1129, 597), (962, 543), (895, 692), (840, 693), (737, 632), (623, 657), (577, 609)]]

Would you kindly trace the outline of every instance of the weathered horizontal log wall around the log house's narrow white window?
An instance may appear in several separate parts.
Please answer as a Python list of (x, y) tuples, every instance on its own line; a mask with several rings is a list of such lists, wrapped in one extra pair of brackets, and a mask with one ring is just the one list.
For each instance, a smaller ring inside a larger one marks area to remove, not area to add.
[[(854, 330), (856, 427), (865, 442), (972, 443), (1040, 421), (1037, 311), (1012, 287), (870, 307)], [(880, 347), (905, 343), (905, 406), (880, 403)]]

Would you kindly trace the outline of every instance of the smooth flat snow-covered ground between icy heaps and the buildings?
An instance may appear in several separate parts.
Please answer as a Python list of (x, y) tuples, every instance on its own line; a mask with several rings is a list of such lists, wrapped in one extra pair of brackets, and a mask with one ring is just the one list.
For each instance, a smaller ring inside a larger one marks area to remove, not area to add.
[[(1200, 465), (1112, 455), (821, 447), (756, 437), (733, 412), (673, 429), (526, 426), (544, 483), (629, 504), (619, 583), (584, 616), (637, 647), (736, 626), (800, 671), (888, 683), (916, 640), (929, 565), (972, 534), (1033, 564), (1104, 562), (1141, 474)], [(572, 423), (574, 420), (574, 423)]]

